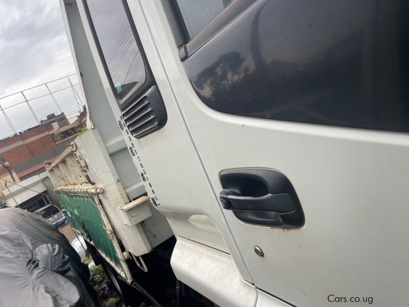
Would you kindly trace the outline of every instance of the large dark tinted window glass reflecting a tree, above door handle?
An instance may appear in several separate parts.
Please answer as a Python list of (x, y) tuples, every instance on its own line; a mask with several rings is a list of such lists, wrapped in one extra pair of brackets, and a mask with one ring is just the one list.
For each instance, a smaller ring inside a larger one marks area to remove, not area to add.
[(219, 112), (408, 132), (408, 11), (404, 0), (260, 0), (185, 68)]

